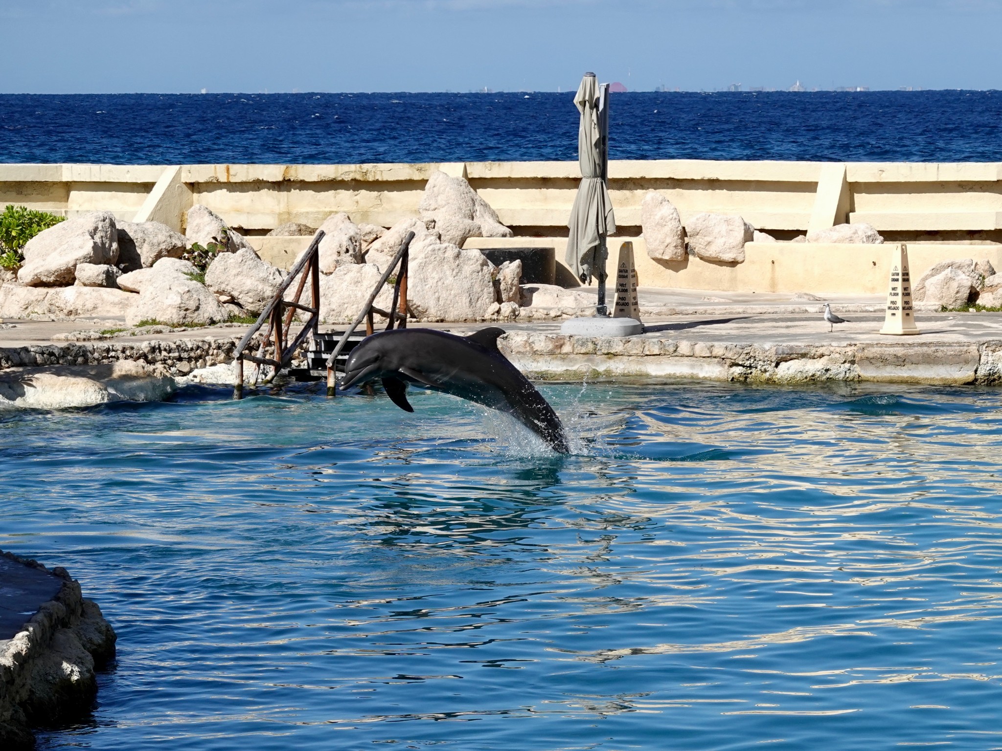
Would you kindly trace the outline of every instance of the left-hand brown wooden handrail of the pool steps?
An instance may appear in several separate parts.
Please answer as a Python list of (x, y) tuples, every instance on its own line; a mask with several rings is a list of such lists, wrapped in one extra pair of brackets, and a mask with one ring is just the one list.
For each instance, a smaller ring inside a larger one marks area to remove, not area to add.
[[(236, 384), (233, 391), (235, 399), (240, 399), (243, 396), (244, 359), (255, 362), (258, 365), (258, 369), (255, 372), (255, 386), (258, 384), (262, 367), (266, 365), (270, 366), (272, 373), (264, 382), (265, 384), (270, 384), (275, 381), (276, 376), (283, 368), (289, 366), (293, 360), (293, 356), (296, 354), (296, 350), (306, 341), (307, 336), (311, 332), (316, 331), (318, 325), (320, 325), (320, 241), (322, 239), (324, 239), (324, 232), (317, 232), (317, 236), (310, 243), (310, 247), (307, 248), (306, 253), (297, 261), (296, 265), (289, 272), (289, 275), (282, 282), (282, 286), (279, 287), (272, 301), (262, 310), (261, 315), (258, 316), (258, 320), (243, 334), (240, 343), (236, 345), (236, 352), (234, 354)], [(291, 300), (285, 299), (286, 290), (297, 278), (299, 278), (299, 285), (296, 287), (296, 295)], [(305, 305), (300, 302), (308, 278), (311, 280), (310, 292), (313, 301), (312, 305)], [(285, 320), (283, 320), (284, 308), (288, 308)], [(289, 329), (293, 324), (293, 317), (296, 315), (297, 310), (310, 313), (310, 317), (292, 343), (287, 345), (286, 342), (289, 341)], [(258, 353), (247, 354), (244, 351), (247, 344), (250, 343), (255, 334), (261, 330), (266, 321), (268, 321), (268, 333), (265, 334), (265, 338), (259, 345)], [(270, 350), (274, 353), (274, 356), (268, 356)]]

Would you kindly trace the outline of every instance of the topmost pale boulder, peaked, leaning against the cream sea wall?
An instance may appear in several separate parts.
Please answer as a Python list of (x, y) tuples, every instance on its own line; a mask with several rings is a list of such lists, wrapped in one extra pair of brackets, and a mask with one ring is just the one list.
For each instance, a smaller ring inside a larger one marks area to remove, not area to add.
[(428, 179), (418, 207), (421, 218), (434, 220), (443, 242), (462, 246), (467, 237), (511, 237), (494, 209), (462, 177), (438, 170)]

